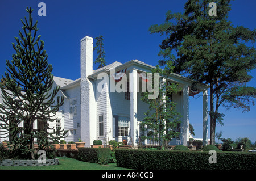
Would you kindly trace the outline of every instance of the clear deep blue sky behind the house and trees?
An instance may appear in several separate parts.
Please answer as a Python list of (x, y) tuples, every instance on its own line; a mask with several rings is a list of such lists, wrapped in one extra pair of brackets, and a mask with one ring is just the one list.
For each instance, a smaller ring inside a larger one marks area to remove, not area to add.
[[(38, 3), (46, 3), (46, 16), (38, 15)], [(53, 65), (53, 74), (57, 77), (77, 79), (80, 77), (80, 40), (84, 36), (104, 36), (106, 62), (126, 62), (132, 59), (158, 64), (159, 44), (163, 37), (150, 35), (148, 28), (152, 24), (164, 23), (166, 12), (183, 12), (186, 1), (0, 1), (0, 74), (6, 71), (5, 60), (11, 60), (15, 53), (11, 45), (22, 30), (20, 19), (27, 16), (26, 7), (34, 9), (34, 20), (38, 20), (39, 35), (45, 42), (48, 61)], [(214, 1), (209, 1), (214, 2)], [(234, 26), (255, 28), (255, 0), (232, 1), (229, 14)], [(254, 44), (255, 46), (255, 44)], [(96, 54), (94, 55), (94, 59)], [(97, 66), (95, 65), (96, 69)], [(251, 75), (256, 77), (256, 71)], [(253, 79), (249, 83), (255, 86)], [(196, 98), (196, 97), (195, 97)], [(202, 137), (202, 98), (190, 99), (189, 121), (195, 128), (195, 138)], [(224, 126), (217, 125), (216, 131), (222, 131), (223, 138), (249, 137), (256, 141), (256, 107), (250, 112), (241, 110), (220, 110), (225, 113)], [(208, 125), (208, 138), (210, 132)], [(218, 141), (218, 140), (216, 140)]]

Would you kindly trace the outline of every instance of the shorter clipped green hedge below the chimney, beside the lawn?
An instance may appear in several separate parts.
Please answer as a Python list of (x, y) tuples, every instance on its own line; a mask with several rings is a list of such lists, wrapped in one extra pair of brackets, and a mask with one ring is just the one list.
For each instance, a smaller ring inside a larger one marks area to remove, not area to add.
[(110, 162), (110, 148), (78, 148), (77, 158), (80, 161), (106, 164)]

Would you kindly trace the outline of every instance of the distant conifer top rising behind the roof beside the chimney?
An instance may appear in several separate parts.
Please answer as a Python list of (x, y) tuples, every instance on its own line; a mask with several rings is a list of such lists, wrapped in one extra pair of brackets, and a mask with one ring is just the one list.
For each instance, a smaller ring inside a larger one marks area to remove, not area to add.
[(106, 66), (106, 61), (105, 61), (105, 51), (104, 51), (104, 44), (103, 44), (103, 36), (100, 35), (98, 37), (95, 38), (97, 41), (96, 41), (96, 47), (93, 47), (93, 50), (97, 50), (97, 58), (96, 60), (94, 61), (95, 64), (100, 64), (98, 66), (98, 69), (99, 68), (102, 68), (104, 66)]

